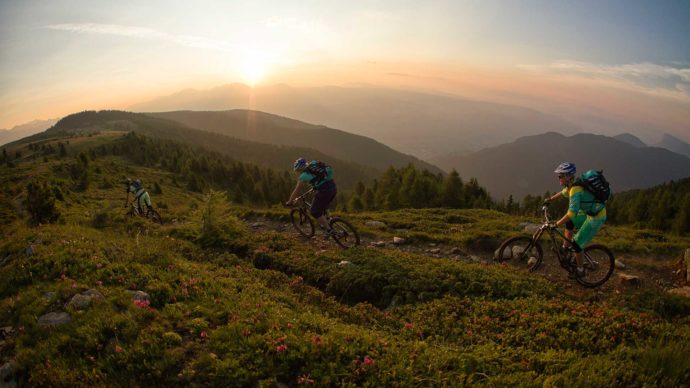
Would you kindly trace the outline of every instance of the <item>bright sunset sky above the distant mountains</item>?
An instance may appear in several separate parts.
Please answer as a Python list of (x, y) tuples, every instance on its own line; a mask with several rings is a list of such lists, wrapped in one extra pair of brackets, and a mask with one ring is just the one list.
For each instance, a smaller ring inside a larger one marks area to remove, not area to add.
[(0, 0), (0, 128), (241, 82), (373, 84), (690, 141), (690, 1)]

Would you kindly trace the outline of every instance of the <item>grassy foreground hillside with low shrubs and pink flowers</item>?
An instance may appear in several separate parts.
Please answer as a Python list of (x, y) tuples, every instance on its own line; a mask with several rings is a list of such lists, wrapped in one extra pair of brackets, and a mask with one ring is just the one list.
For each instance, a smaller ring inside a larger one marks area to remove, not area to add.
[[(287, 209), (231, 204), (137, 152), (101, 153), (132, 136), (42, 144), (67, 144), (62, 156), (15, 145), (24, 156), (0, 167), (3, 384), (690, 382), (690, 302), (665, 293), (688, 238), (607, 227), (601, 242), (629, 271), (666, 277), (591, 291), (493, 265), (498, 241), (535, 220), (490, 210), (343, 214), (384, 244), (342, 251), (298, 238)], [(125, 216), (118, 179), (133, 173), (159, 184), (165, 225)], [(55, 223), (27, 224), (46, 211), (24, 202), (32, 182), (45, 182)]]

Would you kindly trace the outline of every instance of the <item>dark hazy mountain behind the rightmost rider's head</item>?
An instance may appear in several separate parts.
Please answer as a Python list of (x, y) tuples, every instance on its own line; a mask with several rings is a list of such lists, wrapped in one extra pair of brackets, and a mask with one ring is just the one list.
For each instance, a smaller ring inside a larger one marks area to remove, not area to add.
[(563, 161), (577, 165), (580, 173), (603, 169), (614, 192), (654, 186), (690, 176), (690, 158), (657, 147), (637, 148), (614, 138), (545, 133), (465, 155), (432, 160), (445, 169), (456, 169), (467, 179), (477, 178), (495, 198), (512, 194), (541, 195), (559, 190), (554, 168)]

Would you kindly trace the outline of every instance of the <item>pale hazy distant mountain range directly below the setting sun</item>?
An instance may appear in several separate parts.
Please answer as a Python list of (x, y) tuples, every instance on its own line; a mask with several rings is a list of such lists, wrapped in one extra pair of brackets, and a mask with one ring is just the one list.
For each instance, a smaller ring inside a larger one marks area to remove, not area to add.
[(576, 125), (533, 109), (376, 87), (249, 88), (232, 84), (183, 90), (131, 107), (140, 112), (238, 108), (339, 128), (424, 160), (547, 131), (579, 132)]

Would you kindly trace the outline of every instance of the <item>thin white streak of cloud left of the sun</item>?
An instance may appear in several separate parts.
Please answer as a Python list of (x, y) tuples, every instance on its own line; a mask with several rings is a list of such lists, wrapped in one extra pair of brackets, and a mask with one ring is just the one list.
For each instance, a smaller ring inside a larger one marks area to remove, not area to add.
[(147, 27), (124, 26), (119, 24), (67, 23), (51, 24), (42, 28), (57, 31), (68, 31), (78, 34), (101, 34), (126, 36), (137, 39), (158, 40), (177, 44), (183, 47), (202, 48), (216, 51), (231, 51), (239, 46), (218, 39), (194, 35), (172, 35)]

